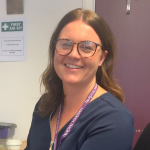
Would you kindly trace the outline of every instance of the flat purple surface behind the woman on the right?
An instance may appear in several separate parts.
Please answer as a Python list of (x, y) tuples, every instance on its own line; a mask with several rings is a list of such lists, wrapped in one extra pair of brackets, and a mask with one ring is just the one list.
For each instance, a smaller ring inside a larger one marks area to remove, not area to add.
[(96, 0), (96, 12), (117, 40), (115, 77), (135, 118), (134, 145), (150, 122), (150, 0), (132, 0), (129, 15), (126, 0)]

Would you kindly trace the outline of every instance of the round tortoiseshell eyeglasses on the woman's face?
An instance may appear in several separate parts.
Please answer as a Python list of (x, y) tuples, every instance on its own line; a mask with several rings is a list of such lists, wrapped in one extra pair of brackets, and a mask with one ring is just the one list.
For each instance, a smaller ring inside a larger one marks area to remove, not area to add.
[(100, 44), (92, 41), (81, 41), (80, 43), (73, 43), (68, 39), (58, 39), (55, 44), (56, 52), (62, 56), (70, 54), (73, 50), (74, 44), (77, 44), (77, 51), (83, 57), (93, 56), (97, 47), (102, 47)]

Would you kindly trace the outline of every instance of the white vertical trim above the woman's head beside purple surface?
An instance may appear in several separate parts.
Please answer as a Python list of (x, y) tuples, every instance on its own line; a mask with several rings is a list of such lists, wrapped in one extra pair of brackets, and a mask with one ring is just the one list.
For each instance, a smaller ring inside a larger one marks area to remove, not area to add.
[(95, 0), (82, 0), (82, 8), (95, 12)]

